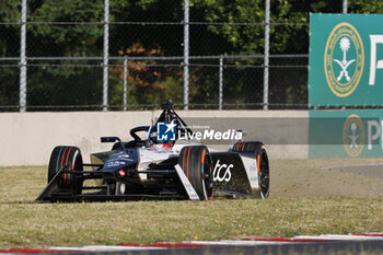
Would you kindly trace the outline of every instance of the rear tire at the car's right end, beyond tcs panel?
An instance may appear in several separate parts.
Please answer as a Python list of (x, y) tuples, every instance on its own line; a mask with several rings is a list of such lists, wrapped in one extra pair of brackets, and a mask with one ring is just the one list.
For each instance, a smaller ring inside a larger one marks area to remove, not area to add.
[(266, 149), (262, 142), (256, 142), (255, 155), (258, 169), (259, 197), (265, 199), (270, 195), (270, 167)]

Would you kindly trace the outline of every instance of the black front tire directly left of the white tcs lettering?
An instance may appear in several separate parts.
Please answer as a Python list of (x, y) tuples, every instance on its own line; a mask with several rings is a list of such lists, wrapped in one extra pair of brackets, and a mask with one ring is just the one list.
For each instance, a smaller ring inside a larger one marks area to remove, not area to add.
[(183, 169), (200, 200), (213, 197), (212, 161), (206, 146), (184, 147), (178, 164)]

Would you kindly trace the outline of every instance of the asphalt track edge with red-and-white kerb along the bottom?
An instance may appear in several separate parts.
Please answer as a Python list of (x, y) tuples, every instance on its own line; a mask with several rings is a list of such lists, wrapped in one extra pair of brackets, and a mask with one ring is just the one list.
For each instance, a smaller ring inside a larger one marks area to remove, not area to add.
[[(82, 251), (81, 251), (82, 250)], [(297, 236), (240, 241), (120, 244), (116, 246), (13, 248), (0, 254), (383, 254), (383, 233)]]

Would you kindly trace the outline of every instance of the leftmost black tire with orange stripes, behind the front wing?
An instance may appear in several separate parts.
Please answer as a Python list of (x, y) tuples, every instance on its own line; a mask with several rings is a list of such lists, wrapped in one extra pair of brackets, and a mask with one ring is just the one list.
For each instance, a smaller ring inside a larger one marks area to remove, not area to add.
[[(62, 169), (74, 171), (83, 170), (81, 151), (77, 147), (56, 147), (51, 152), (48, 166), (48, 183)], [(65, 173), (58, 181), (60, 189), (71, 189), (74, 194), (81, 194), (82, 181), (74, 178), (74, 174)]]

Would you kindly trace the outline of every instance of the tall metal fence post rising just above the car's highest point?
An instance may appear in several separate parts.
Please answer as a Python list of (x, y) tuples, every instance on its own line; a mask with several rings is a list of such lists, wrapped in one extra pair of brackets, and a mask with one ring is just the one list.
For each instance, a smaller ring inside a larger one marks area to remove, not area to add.
[(189, 108), (189, 0), (184, 0), (184, 109)]

